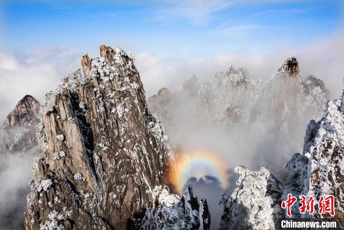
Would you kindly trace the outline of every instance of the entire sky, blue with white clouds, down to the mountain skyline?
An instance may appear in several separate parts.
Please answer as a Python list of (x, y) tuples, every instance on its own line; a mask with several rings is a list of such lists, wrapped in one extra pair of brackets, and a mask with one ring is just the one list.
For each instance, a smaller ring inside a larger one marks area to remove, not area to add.
[(268, 79), (290, 56), (337, 97), (343, 12), (344, 0), (0, 0), (0, 120), (25, 94), (43, 101), (101, 44), (133, 52), (147, 97), (231, 65)]

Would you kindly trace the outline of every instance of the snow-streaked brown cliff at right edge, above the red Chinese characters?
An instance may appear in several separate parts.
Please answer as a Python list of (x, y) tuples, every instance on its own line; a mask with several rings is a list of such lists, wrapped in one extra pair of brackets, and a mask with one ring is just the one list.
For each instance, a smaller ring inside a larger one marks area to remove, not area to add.
[[(342, 99), (327, 102), (323, 118), (315, 123), (310, 121), (303, 150), (303, 156), (296, 155), (289, 165), (288, 181), (284, 196), (304, 195), (314, 197), (333, 195), (335, 199), (335, 217), (344, 219), (344, 113), (341, 110)], [(297, 210), (294, 217), (300, 217)], [(316, 217), (326, 218), (329, 214), (315, 213)], [(307, 214), (302, 214), (307, 217)]]

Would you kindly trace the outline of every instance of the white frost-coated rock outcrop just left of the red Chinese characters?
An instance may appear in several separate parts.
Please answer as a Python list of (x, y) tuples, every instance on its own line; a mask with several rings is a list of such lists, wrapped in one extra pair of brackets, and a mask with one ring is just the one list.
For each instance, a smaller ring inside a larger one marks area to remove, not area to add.
[(261, 167), (252, 171), (244, 166), (235, 168), (239, 173), (238, 187), (231, 196), (222, 197), (224, 214), (221, 229), (271, 230), (281, 214), (280, 198), (283, 185)]

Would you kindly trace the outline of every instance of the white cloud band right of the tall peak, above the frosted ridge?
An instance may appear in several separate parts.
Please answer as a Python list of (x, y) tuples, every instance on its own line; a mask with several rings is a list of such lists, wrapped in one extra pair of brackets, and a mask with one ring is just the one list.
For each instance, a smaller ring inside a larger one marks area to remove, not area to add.
[(336, 98), (343, 89), (344, 31), (316, 39), (312, 43), (294, 47), (281, 44), (260, 53), (217, 53), (215, 58), (163, 58), (149, 52), (137, 55), (136, 66), (141, 69), (141, 78), (146, 95), (155, 94), (160, 88), (176, 90), (193, 73), (201, 80), (210, 79), (216, 70), (229, 66), (245, 67), (250, 77), (267, 79), (287, 57), (295, 56), (304, 77), (313, 74), (322, 79), (330, 90), (330, 98)]

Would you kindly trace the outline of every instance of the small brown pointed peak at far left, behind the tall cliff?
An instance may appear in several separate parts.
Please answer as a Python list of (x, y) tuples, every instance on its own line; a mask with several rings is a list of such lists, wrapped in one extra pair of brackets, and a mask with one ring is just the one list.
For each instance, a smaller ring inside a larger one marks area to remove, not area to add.
[(21, 152), (37, 145), (39, 102), (26, 95), (6, 117), (0, 128), (0, 153)]

